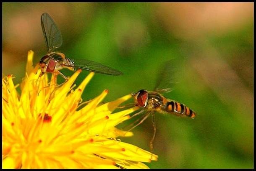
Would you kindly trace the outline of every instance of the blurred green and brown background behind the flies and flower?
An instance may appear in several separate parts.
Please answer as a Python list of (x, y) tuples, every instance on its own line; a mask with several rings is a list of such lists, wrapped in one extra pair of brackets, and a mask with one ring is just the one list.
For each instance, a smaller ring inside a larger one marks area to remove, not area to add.
[[(35, 63), (47, 52), (44, 12), (63, 35), (59, 51), (124, 73), (95, 74), (84, 100), (104, 89), (110, 91), (104, 102), (152, 90), (163, 62), (175, 60), (170, 77), (177, 84), (165, 95), (197, 116), (157, 113), (159, 160), (146, 163), (150, 168), (254, 168), (253, 3), (3, 3), (2, 72), (16, 76), (16, 84), (24, 77), (27, 52), (35, 52)], [(151, 119), (133, 132), (121, 140), (150, 151)]]

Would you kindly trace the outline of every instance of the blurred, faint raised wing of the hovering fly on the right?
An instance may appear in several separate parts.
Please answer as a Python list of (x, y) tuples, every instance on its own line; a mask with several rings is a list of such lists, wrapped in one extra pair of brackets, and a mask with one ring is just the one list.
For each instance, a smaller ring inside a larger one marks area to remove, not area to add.
[(173, 59), (164, 62), (157, 74), (154, 91), (159, 93), (172, 91), (172, 87), (177, 83), (174, 78), (176, 65), (176, 62)]

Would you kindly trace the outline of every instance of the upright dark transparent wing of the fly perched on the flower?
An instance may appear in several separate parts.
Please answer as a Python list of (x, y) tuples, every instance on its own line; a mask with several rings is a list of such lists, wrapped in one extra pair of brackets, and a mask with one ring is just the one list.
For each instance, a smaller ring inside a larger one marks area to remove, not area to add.
[(47, 51), (50, 53), (62, 45), (62, 36), (60, 30), (49, 14), (42, 14), (41, 25), (44, 33), (44, 40), (47, 45)]

